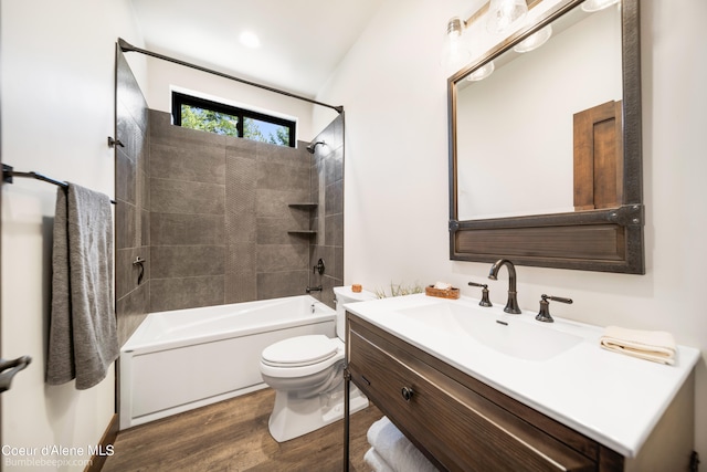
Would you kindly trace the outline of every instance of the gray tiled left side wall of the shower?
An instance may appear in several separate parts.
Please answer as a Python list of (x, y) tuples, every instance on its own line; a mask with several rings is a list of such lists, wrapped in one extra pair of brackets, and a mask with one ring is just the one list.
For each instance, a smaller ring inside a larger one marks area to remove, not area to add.
[[(148, 109), (123, 53), (116, 64), (115, 297), (123, 345), (149, 311)], [(146, 259), (138, 285), (137, 258)]]

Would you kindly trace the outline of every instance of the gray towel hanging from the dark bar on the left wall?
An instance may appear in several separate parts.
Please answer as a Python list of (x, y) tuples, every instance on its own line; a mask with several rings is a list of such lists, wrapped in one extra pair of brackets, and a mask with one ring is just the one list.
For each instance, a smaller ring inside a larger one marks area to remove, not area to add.
[(98, 384), (118, 357), (110, 199), (74, 183), (56, 193), (46, 382)]

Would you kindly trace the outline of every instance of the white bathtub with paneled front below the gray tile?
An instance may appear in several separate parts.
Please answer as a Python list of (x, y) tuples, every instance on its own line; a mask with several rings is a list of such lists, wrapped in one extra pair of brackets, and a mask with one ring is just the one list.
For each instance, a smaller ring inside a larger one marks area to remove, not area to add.
[(267, 387), (262, 350), (336, 336), (336, 312), (309, 295), (150, 313), (120, 348), (120, 429)]

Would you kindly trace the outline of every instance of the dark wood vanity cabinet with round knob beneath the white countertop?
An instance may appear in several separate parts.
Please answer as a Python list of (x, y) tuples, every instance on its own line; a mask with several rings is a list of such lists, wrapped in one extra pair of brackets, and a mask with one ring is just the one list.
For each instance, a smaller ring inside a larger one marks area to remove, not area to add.
[(689, 470), (694, 376), (624, 459), (350, 312), (347, 361), (347, 378), (440, 470)]

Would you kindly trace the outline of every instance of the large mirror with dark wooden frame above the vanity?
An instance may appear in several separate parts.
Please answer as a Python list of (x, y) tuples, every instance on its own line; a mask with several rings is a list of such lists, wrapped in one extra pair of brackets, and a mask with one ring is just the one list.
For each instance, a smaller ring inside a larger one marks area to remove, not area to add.
[[(639, 1), (581, 3), (450, 77), (452, 260), (645, 272)], [(548, 25), (539, 49), (514, 51)]]

